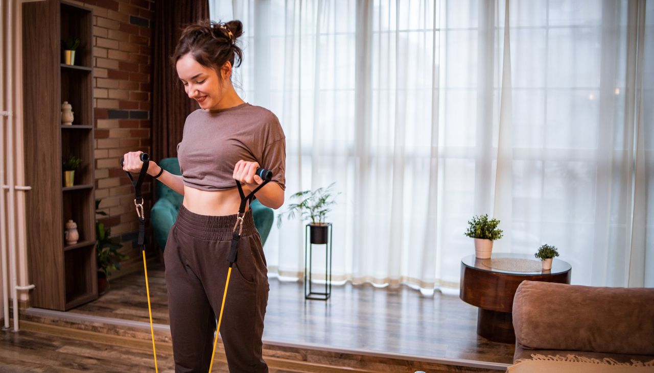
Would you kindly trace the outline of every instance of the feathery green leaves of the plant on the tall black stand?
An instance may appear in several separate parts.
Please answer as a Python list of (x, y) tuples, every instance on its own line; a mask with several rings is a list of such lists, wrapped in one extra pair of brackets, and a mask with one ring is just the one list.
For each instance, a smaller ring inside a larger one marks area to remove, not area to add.
[(328, 187), (319, 187), (315, 191), (310, 189), (298, 191), (290, 196), (291, 199), (297, 199), (300, 202), (289, 204), (288, 211), (277, 216), (277, 227), (281, 226), (284, 214), (288, 219), (293, 219), (297, 213), (300, 213), (302, 220), (311, 219), (312, 224), (324, 224), (327, 213), (332, 211), (329, 206), (336, 203), (334, 198), (340, 194), (334, 195), (332, 190), (334, 184), (336, 183), (332, 183)]

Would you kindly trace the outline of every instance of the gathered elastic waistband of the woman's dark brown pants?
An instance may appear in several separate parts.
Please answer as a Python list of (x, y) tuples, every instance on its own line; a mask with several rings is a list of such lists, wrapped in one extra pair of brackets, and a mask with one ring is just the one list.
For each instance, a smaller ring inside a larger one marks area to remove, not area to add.
[[(231, 240), (237, 214), (233, 215), (200, 215), (189, 211), (184, 204), (179, 206), (179, 213), (175, 225), (186, 235), (200, 238), (201, 240)], [(243, 231), (241, 236), (249, 236), (256, 233), (252, 210), (247, 210), (243, 217)]]

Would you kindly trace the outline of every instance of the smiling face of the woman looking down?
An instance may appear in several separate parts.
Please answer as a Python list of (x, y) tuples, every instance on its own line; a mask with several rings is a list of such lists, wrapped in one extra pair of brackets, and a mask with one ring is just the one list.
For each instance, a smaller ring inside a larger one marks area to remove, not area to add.
[(200, 65), (190, 53), (178, 59), (176, 67), (188, 97), (198, 101), (203, 109), (220, 108), (220, 101), (224, 98), (228, 85), (232, 84), (232, 65), (229, 62), (220, 69), (222, 79), (215, 69)]

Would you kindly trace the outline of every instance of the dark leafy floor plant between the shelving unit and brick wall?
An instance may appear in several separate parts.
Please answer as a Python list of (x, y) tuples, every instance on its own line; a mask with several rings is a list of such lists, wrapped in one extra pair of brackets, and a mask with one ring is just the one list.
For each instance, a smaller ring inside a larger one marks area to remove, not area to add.
[[(100, 200), (95, 200), (95, 214), (107, 216), (107, 213), (98, 210)], [(105, 228), (103, 223), (95, 221), (96, 246), (95, 253), (97, 257), (97, 293), (104, 294), (109, 289), (109, 275), (112, 270), (120, 270), (120, 261), (129, 259), (128, 255), (119, 253), (118, 249), (122, 246), (117, 238), (111, 236), (111, 228)]]

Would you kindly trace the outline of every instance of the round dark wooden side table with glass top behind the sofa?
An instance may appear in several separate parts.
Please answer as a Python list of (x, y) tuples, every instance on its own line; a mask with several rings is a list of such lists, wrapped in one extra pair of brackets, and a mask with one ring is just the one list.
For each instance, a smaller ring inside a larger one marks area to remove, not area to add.
[[(534, 259), (534, 255), (518, 253), (492, 253), (491, 259)], [(477, 334), (493, 342), (515, 343), (513, 331), (513, 296), (521, 282), (543, 281), (570, 284), (572, 266), (554, 259), (551, 270), (519, 272), (488, 267), (475, 255), (461, 260), (459, 297), (466, 303), (479, 307), (477, 311)]]

